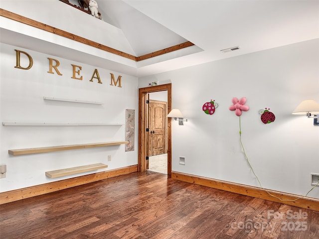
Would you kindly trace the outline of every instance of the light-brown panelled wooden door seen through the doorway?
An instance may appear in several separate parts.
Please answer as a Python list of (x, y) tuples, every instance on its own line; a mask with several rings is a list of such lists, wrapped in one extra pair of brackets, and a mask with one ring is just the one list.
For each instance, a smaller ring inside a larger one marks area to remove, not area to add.
[(166, 153), (167, 102), (149, 101), (148, 156)]

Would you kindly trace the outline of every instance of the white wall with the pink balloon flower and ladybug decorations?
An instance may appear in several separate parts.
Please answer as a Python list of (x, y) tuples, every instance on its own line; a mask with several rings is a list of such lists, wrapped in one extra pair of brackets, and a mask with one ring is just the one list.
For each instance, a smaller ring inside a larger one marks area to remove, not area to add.
[[(144, 77), (139, 87), (170, 80), (172, 107), (188, 119), (184, 126), (172, 122), (173, 171), (259, 187), (240, 145), (239, 117), (228, 110), (233, 97), (246, 97), (242, 142), (262, 186), (305, 195), (310, 174), (319, 173), (319, 126), (291, 113), (302, 100), (319, 102), (318, 66), (315, 39)], [(202, 111), (210, 100), (219, 104), (211, 116)], [(265, 108), (275, 122), (261, 122)], [(319, 198), (319, 187), (308, 196)]]

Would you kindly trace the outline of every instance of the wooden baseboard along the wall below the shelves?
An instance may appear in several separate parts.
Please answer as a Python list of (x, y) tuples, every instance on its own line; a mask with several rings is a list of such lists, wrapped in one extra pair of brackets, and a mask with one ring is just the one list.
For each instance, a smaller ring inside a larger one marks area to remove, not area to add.
[(25, 198), (35, 197), (46, 193), (51, 193), (71, 187), (80, 186), (86, 183), (92, 183), (99, 180), (112, 178), (124, 174), (138, 171), (138, 165), (132, 165), (124, 168), (118, 168), (99, 173), (88, 174), (80, 177), (59, 180), (51, 183), (40, 184), (27, 188), (16, 189), (0, 193), (0, 204), (10, 203)]

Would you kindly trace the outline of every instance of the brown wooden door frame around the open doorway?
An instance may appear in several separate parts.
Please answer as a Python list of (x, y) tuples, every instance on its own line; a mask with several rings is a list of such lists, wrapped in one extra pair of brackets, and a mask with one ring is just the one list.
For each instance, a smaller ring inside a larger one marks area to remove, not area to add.
[[(139, 89), (139, 147), (138, 147), (138, 171), (147, 170), (147, 94), (159, 91), (167, 91), (167, 113), (171, 110), (171, 83), (151, 86)], [(167, 178), (171, 177), (171, 118), (167, 119)]]

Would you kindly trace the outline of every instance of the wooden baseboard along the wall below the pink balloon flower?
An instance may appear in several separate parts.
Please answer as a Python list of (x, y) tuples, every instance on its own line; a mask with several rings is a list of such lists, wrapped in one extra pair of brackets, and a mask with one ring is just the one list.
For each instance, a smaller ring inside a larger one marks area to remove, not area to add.
[[(248, 186), (244, 184), (237, 184), (217, 179), (211, 179), (211, 178), (205, 178), (200, 176), (195, 176), (191, 174), (185, 174), (185, 173), (179, 173), (179, 172), (171, 172), (171, 178), (188, 182), (188, 183), (194, 183), (210, 188), (216, 188), (221, 189), (228, 192), (238, 193), (254, 198), (260, 198), (269, 200), (272, 202), (287, 204), (290, 206), (295, 206), (299, 208), (306, 208), (311, 209), (314, 211), (319, 211), (319, 199), (316, 198), (310, 198), (310, 197), (303, 197), (299, 195), (294, 194), (288, 194), (273, 190), (265, 190), (258, 187)], [(271, 195), (269, 195), (269, 193)], [(281, 200), (280, 200), (280, 199)], [(297, 199), (298, 198), (298, 199)], [(297, 199), (297, 200), (296, 200)], [(293, 201), (296, 200), (296, 201)]]

